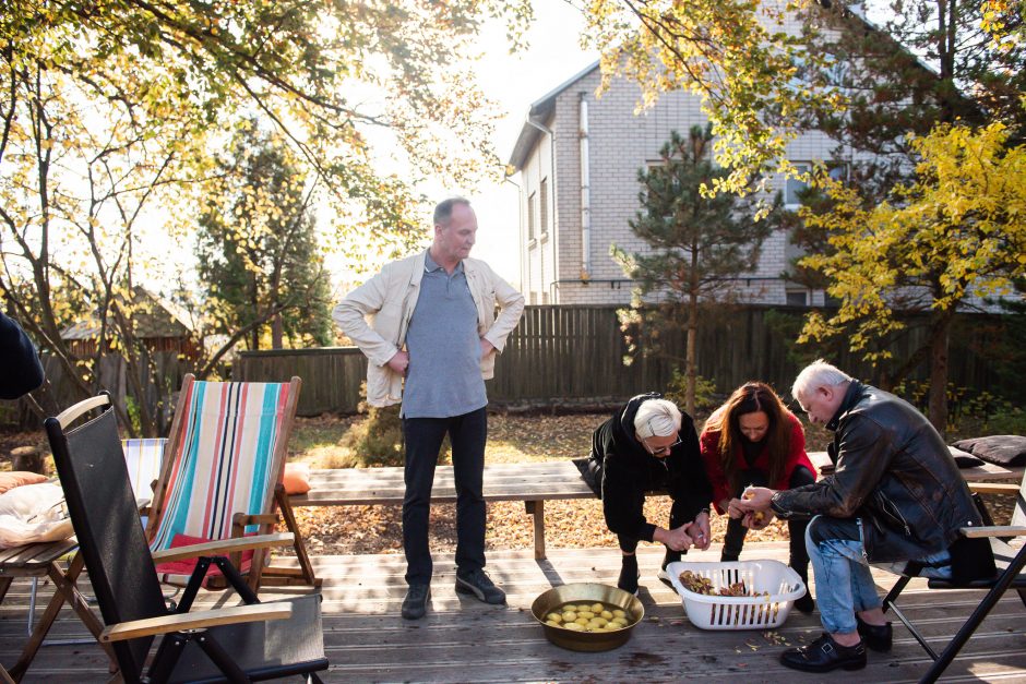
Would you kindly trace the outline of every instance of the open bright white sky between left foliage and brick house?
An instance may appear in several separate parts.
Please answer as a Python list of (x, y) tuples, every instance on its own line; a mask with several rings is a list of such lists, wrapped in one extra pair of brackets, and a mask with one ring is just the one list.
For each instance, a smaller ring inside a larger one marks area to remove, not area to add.
[[(578, 36), (584, 22), (563, 0), (536, 0), (528, 47), (510, 55), (501, 22), (489, 22), (480, 37), (485, 50), (475, 64), (485, 94), (503, 112), (496, 125), (494, 149), (502, 163), (527, 118), (530, 104), (598, 59), (585, 52)], [(517, 176), (512, 179), (520, 182)], [(482, 184), (466, 192), (478, 219), (477, 244), (472, 256), (482, 259), (515, 287), (520, 287), (517, 189), (510, 182)]]

